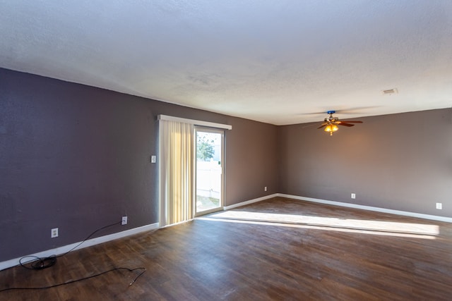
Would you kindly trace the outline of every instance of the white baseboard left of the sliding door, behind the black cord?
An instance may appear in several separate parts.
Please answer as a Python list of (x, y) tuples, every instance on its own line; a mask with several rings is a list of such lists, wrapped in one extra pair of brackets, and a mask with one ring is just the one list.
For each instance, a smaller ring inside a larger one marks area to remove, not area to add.
[[(80, 247), (77, 247), (76, 250), (79, 249), (83, 249), (84, 247), (90, 247), (92, 245), (99, 245), (103, 242), (107, 242), (110, 240), (116, 240), (118, 238), (124, 238), (126, 236), (129, 235), (133, 235), (133, 234), (138, 234), (141, 232), (145, 232), (145, 231), (150, 231), (150, 230), (155, 230), (159, 228), (159, 223), (151, 223), (150, 225), (146, 225), (146, 226), (142, 226), (142, 227), (138, 227), (138, 228), (133, 228), (133, 229), (129, 229), (126, 231), (121, 231), (118, 233), (113, 233), (113, 234), (109, 234), (109, 235), (105, 235), (105, 236), (100, 236), (98, 238), (92, 238), (90, 240), (85, 240), (85, 242), (83, 242), (83, 244), (80, 245)], [(75, 242), (71, 245), (64, 245), (62, 247), (57, 247), (55, 249), (52, 250), (46, 250), (46, 251), (42, 251), (42, 252), (38, 252), (35, 254), (30, 254), (28, 256), (35, 256), (35, 257), (49, 257), (52, 255), (59, 255), (59, 254), (64, 254), (66, 252), (69, 252), (69, 250), (71, 250), (73, 247), (76, 247), (76, 245), (78, 245), (80, 242)], [(18, 257), (15, 259), (10, 259), (7, 260), (6, 262), (0, 262), (0, 271), (4, 270), (4, 269), (8, 269), (11, 268), (12, 266), (16, 266), (19, 264), (19, 260), (22, 257)], [(31, 259), (31, 258), (30, 258)], [(24, 262), (27, 262), (26, 260)]]

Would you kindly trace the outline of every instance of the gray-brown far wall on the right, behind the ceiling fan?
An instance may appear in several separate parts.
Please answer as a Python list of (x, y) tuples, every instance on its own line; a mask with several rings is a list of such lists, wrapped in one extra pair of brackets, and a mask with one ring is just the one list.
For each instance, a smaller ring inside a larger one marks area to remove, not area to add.
[(333, 136), (278, 127), (280, 192), (452, 217), (452, 109), (359, 120)]

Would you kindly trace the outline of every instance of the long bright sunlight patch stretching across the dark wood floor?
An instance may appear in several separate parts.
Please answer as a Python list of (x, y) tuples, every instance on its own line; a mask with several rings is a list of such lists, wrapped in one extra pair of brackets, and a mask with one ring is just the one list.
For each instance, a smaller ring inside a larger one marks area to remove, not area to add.
[(434, 239), (436, 235), (439, 235), (439, 226), (424, 223), (338, 219), (323, 216), (273, 214), (251, 211), (222, 211), (198, 219), (233, 223), (258, 223), (295, 228), (321, 228), (329, 231), (345, 231), (425, 239)]

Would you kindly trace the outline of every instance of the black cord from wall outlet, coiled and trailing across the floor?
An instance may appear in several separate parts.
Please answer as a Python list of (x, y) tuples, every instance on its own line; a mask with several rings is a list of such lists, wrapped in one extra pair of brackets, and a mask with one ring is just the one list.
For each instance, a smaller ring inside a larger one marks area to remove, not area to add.
[[(69, 254), (70, 252), (75, 250), (77, 247), (79, 247), (81, 244), (83, 244), (83, 242), (88, 240), (91, 236), (95, 235), (95, 233), (97, 233), (97, 232), (99, 232), (99, 231), (101, 231), (101, 230), (103, 230), (105, 228), (118, 225), (120, 223), (121, 223), (121, 221), (119, 221), (117, 223), (112, 223), (111, 225), (107, 225), (107, 226), (104, 226), (102, 228), (97, 229), (96, 231), (94, 231), (93, 233), (88, 235), (87, 238), (82, 240), (78, 245), (76, 245), (75, 247), (73, 247), (71, 250), (69, 250), (68, 252), (66, 252), (64, 254), (60, 254), (58, 256), (57, 255), (52, 255), (52, 256), (49, 256), (49, 257), (37, 257), (37, 256), (31, 256), (31, 255), (30, 256), (25, 256), (25, 257), (22, 257), (22, 258), (19, 259), (19, 264), (18, 265), (22, 266), (25, 269), (30, 269), (30, 270), (47, 269), (50, 266), (54, 266), (57, 263), (57, 258), (66, 256), (67, 254)], [(34, 259), (31, 259), (28, 262), (23, 262), (23, 259), (30, 258), (30, 257), (32, 257)], [(29, 264), (29, 266), (27, 266), (26, 264)], [(135, 281), (141, 275), (143, 275), (144, 272), (146, 271), (146, 269), (144, 267), (139, 267), (139, 268), (135, 268), (135, 269), (118, 267), (118, 268), (110, 269), (108, 271), (104, 271), (102, 273), (95, 274), (95, 275), (92, 275), (92, 276), (88, 276), (88, 277), (84, 277), (84, 278), (80, 278), (80, 279), (76, 279), (76, 280), (72, 280), (72, 281), (67, 281), (67, 282), (64, 282), (64, 283), (58, 283), (58, 284), (54, 284), (54, 285), (49, 285), (49, 286), (42, 286), (42, 287), (35, 287), (35, 288), (4, 288), (3, 290), (0, 290), (0, 293), (1, 292), (6, 292), (7, 290), (44, 290), (44, 289), (47, 289), (47, 288), (56, 288), (56, 287), (61, 286), (61, 285), (66, 285), (66, 284), (75, 283), (75, 282), (78, 282), (78, 281), (87, 280), (87, 279), (90, 279), (90, 278), (94, 278), (94, 277), (97, 277), (97, 276), (100, 276), (100, 275), (103, 275), (103, 274), (107, 274), (107, 273), (112, 272), (112, 271), (118, 271), (118, 270), (121, 270), (121, 269), (125, 269), (127, 271), (136, 271), (138, 269), (142, 269), (143, 270), (140, 274), (138, 274), (138, 276), (135, 277), (135, 279), (133, 279), (133, 281), (131, 283), (129, 283), (129, 285), (132, 285), (133, 283), (135, 283)]]

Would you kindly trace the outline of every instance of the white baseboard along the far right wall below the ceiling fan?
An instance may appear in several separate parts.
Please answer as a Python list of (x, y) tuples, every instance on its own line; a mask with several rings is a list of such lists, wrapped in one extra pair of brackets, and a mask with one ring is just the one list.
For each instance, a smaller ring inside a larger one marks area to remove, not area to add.
[(445, 216), (436, 216), (436, 215), (415, 213), (415, 212), (410, 212), (410, 211), (400, 211), (400, 210), (386, 209), (386, 208), (380, 208), (380, 207), (364, 206), (364, 205), (359, 205), (359, 204), (335, 202), (335, 201), (328, 201), (327, 199), (314, 199), (312, 197), (299, 197), (297, 195), (285, 195), (283, 193), (277, 193), (277, 195), (278, 195), (278, 197), (287, 197), (289, 199), (298, 199), (300, 201), (315, 202), (315, 203), (321, 203), (321, 204), (330, 204), (330, 205), (335, 205), (335, 206), (340, 206), (340, 207), (377, 211), (377, 212), (383, 212), (383, 213), (388, 213), (388, 214), (398, 214), (398, 215), (403, 215), (403, 216), (417, 217), (420, 219), (431, 219), (434, 221), (446, 221), (447, 223), (452, 223), (452, 218), (445, 217)]

